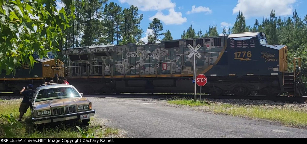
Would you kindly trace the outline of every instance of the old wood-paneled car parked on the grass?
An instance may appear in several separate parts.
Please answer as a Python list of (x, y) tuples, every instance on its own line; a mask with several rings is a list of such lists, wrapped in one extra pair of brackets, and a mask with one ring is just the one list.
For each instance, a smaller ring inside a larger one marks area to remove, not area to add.
[(92, 103), (82, 97), (72, 85), (55, 83), (41, 85), (31, 101), (32, 123), (52, 123), (72, 119), (81, 119), (83, 124), (95, 115)]

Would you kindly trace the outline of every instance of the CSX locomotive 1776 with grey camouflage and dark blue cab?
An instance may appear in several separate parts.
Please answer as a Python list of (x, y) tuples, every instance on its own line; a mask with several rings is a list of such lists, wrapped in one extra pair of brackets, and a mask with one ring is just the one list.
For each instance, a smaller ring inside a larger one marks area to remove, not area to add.
[(287, 46), (268, 45), (261, 32), (71, 48), (63, 51), (71, 61), (65, 77), (83, 93), (193, 93), (188, 44), (201, 46), (196, 75), (206, 75), (205, 93), (306, 94), (300, 59), (294, 72), (288, 72)]

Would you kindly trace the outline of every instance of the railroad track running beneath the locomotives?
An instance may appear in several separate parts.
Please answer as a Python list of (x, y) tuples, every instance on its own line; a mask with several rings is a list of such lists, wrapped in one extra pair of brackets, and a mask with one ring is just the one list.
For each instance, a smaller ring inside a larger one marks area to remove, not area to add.
[[(0, 93), (1, 97), (22, 97), (20, 94), (14, 94), (14, 93)], [(135, 97), (135, 98), (172, 98), (172, 97), (178, 97), (178, 98), (194, 98), (193, 94), (148, 94), (148, 93), (120, 93), (120, 94), (90, 94), (90, 95), (84, 95), (84, 97)], [(200, 98), (200, 95), (197, 95), (197, 98)], [(288, 103), (303, 103), (307, 101), (307, 97), (302, 96), (293, 96), (293, 97), (287, 97), (287, 96), (275, 96), (275, 97), (267, 97), (267, 96), (258, 96), (258, 95), (250, 95), (246, 97), (240, 97), (236, 95), (222, 95), (222, 96), (211, 96), (211, 95), (202, 95), (202, 99), (235, 99), (235, 100), (271, 100), (275, 102), (288, 102)]]

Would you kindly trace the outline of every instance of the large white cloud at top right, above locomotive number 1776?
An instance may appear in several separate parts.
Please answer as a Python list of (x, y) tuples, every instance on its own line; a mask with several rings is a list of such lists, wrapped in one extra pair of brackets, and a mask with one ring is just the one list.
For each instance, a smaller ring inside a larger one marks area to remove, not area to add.
[(238, 0), (237, 6), (232, 9), (232, 14), (243, 12), (246, 19), (270, 15), (275, 10), (276, 16), (289, 15), (293, 12), (296, 0)]

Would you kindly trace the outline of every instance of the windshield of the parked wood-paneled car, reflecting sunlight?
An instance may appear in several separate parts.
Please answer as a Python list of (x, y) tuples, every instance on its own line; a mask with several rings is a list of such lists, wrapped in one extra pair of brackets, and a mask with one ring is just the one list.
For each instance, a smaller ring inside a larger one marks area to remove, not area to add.
[(61, 98), (81, 97), (73, 87), (59, 87), (51, 89), (41, 89), (38, 92), (36, 102), (44, 100), (54, 100)]

